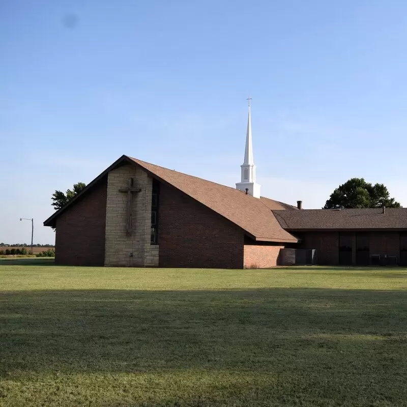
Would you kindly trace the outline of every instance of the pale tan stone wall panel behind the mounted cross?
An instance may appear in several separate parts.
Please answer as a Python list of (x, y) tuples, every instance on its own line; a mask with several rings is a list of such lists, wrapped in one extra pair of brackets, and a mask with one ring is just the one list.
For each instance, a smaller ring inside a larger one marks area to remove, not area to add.
[[(126, 235), (127, 193), (129, 178), (141, 188), (133, 193), (131, 236)], [(158, 266), (159, 247), (150, 244), (151, 194), (153, 179), (141, 168), (124, 165), (109, 172), (106, 209), (105, 266)], [(129, 254), (133, 253), (133, 256)]]

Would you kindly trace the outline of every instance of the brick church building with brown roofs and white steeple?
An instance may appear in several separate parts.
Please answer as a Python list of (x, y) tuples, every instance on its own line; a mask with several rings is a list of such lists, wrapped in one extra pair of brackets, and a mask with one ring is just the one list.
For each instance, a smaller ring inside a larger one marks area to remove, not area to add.
[(305, 210), (260, 195), (250, 105), (236, 188), (123, 155), (44, 225), (59, 265), (407, 265), (407, 209)]

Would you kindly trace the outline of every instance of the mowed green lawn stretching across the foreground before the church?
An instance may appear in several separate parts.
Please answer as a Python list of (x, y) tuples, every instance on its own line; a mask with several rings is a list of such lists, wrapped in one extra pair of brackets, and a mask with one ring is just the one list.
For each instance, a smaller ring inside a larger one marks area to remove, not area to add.
[(407, 405), (407, 270), (0, 263), (2, 406)]

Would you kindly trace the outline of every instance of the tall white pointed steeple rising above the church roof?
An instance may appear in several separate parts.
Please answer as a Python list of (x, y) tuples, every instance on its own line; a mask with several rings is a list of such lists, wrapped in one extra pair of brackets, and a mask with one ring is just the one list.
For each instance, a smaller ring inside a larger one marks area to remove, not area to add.
[(249, 117), (247, 118), (245, 159), (240, 166), (242, 169), (242, 181), (236, 184), (236, 189), (246, 192), (255, 198), (259, 198), (260, 185), (256, 184), (256, 166), (253, 161), (253, 146), (251, 140), (250, 96), (247, 100), (249, 101)]

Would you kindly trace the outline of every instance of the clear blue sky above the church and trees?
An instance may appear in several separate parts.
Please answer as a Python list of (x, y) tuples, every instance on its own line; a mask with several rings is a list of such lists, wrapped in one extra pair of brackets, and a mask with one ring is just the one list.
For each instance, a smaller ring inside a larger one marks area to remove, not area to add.
[(407, 2), (0, 4), (0, 242), (53, 243), (51, 194), (122, 154), (321, 208), (351, 177), (407, 206)]

